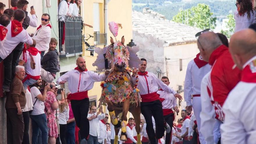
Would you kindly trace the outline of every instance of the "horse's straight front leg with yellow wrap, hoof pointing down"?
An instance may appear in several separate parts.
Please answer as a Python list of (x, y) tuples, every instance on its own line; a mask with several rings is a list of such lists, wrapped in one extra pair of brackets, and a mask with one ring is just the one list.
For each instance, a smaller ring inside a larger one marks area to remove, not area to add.
[(130, 107), (130, 98), (126, 99), (125, 102), (123, 102), (123, 112), (122, 112), (122, 122), (121, 122), (121, 137), (120, 140), (122, 141), (127, 141), (127, 136), (126, 136), (126, 123), (127, 123), (127, 113), (129, 111)]

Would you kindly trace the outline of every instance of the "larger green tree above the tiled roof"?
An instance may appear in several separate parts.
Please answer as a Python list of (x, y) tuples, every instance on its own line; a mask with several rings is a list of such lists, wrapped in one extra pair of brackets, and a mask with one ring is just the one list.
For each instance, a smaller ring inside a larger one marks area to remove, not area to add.
[(199, 29), (214, 29), (216, 26), (216, 17), (211, 17), (212, 15), (213, 13), (208, 5), (198, 3), (197, 6), (193, 6), (186, 11), (181, 10), (173, 17), (173, 21), (188, 24)]

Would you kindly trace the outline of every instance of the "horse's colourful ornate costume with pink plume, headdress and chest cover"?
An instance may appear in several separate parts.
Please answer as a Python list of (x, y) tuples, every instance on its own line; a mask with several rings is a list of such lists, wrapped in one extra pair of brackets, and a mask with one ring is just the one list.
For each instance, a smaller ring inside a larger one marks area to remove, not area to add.
[[(109, 22), (109, 29), (116, 38), (118, 24)], [(95, 48), (95, 53), (98, 56), (93, 66), (97, 66), (96, 70), (98, 71), (111, 70), (106, 80), (101, 83), (102, 97), (100, 98), (100, 104), (104, 104), (106, 100), (111, 100), (114, 103), (124, 102), (127, 98), (130, 98), (131, 103), (138, 104), (141, 101), (137, 88), (138, 76), (136, 76), (136, 83), (132, 83), (130, 74), (133, 72), (132, 68), (138, 68), (140, 64), (140, 59), (136, 54), (139, 47), (125, 46), (124, 41), (124, 36), (121, 42), (114, 42), (111, 38), (111, 45), (103, 49)], [(115, 70), (117, 65), (124, 67), (124, 71)]]

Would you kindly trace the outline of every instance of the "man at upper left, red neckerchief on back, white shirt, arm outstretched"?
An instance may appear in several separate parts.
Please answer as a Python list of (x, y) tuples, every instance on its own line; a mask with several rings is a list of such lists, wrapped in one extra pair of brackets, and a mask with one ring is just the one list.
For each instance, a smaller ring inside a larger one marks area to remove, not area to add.
[[(20, 43), (26, 42), (29, 45), (35, 45), (32, 38), (26, 32), (25, 29), (22, 28), (22, 23), (25, 18), (25, 13), (22, 10), (16, 10), (14, 13), (14, 20), (10, 22), (10, 24), (6, 27), (8, 29), (8, 33), (6, 35), (6, 40), (3, 43), (3, 47), (0, 47), (0, 61), (4, 59), (4, 82), (3, 82), (3, 90), (6, 92), (10, 91), (10, 83), (12, 77), (14, 77), (14, 72), (16, 65), (13, 63), (14, 52), (13, 49)], [(8, 56), (8, 57), (7, 57)]]

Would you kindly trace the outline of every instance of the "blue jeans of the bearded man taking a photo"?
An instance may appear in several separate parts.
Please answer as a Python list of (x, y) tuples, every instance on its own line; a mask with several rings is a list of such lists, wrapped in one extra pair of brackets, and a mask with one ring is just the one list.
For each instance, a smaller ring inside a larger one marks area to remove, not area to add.
[(42, 131), (42, 144), (48, 143), (48, 127), (46, 115), (30, 115), (31, 123), (32, 123), (32, 144), (38, 143), (38, 131), (39, 129)]

